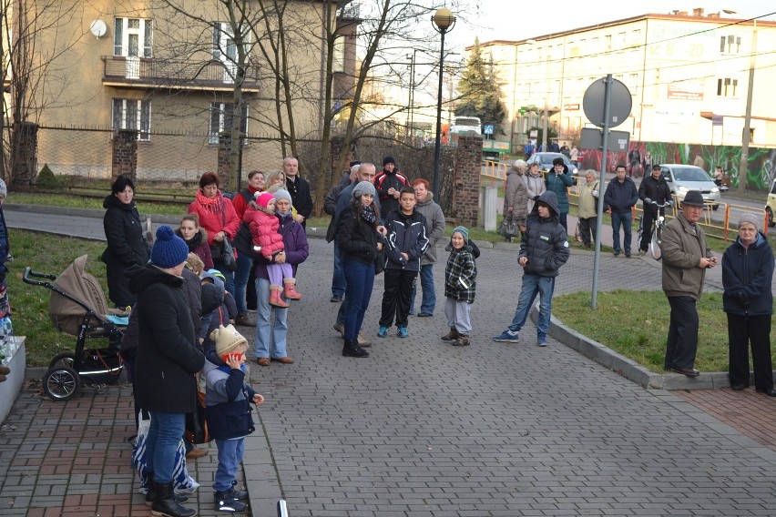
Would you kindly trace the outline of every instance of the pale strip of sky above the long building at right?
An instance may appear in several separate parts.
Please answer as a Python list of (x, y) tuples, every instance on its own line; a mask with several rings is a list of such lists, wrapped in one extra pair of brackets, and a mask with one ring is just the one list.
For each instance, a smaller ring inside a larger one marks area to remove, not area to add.
[[(479, 13), (474, 16), (459, 16), (445, 42), (460, 48), (472, 45), (475, 35), (481, 42), (526, 39), (646, 13), (692, 12), (693, 7), (703, 7), (707, 15), (722, 9), (738, 11), (739, 14), (726, 16), (740, 19), (776, 12), (773, 0), (551, 0), (536, 3), (479, 0), (479, 5)], [(464, 19), (464, 16), (471, 19)], [(776, 16), (760, 19), (776, 21)]]

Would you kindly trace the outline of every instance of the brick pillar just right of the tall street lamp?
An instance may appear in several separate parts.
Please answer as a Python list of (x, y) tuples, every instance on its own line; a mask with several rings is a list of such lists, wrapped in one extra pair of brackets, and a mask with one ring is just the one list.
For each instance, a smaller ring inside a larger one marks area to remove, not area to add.
[(476, 228), (482, 175), (483, 137), (459, 137), (453, 169), (453, 217), (458, 224)]

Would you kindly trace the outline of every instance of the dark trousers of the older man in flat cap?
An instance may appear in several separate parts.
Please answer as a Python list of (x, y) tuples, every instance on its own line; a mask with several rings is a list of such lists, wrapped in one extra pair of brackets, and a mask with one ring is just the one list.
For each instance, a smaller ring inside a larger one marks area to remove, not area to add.
[(691, 369), (698, 351), (698, 309), (689, 296), (670, 296), (671, 322), (666, 342), (666, 370)]

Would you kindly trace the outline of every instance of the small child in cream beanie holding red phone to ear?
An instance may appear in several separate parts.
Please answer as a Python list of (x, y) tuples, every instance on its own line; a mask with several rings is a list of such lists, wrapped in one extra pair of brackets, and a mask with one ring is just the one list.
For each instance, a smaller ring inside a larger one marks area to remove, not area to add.
[(235, 490), (236, 475), (245, 451), (245, 437), (255, 431), (250, 403), (264, 401), (245, 381), (245, 352), (248, 341), (233, 326), (210, 333), (215, 350), (205, 354), (207, 393), (205, 419), (208, 432), (219, 448), (219, 468), (213, 481), (215, 509), (219, 512), (245, 512), (248, 492)]

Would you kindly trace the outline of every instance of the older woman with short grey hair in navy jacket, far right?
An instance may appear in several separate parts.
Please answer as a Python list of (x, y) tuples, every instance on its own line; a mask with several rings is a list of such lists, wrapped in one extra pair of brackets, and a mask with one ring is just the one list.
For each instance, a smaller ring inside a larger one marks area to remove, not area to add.
[(773, 251), (758, 231), (761, 223), (754, 214), (742, 215), (739, 238), (722, 256), (722, 308), (728, 315), (730, 387), (738, 391), (749, 386), (751, 346), (754, 389), (776, 397), (771, 366)]

